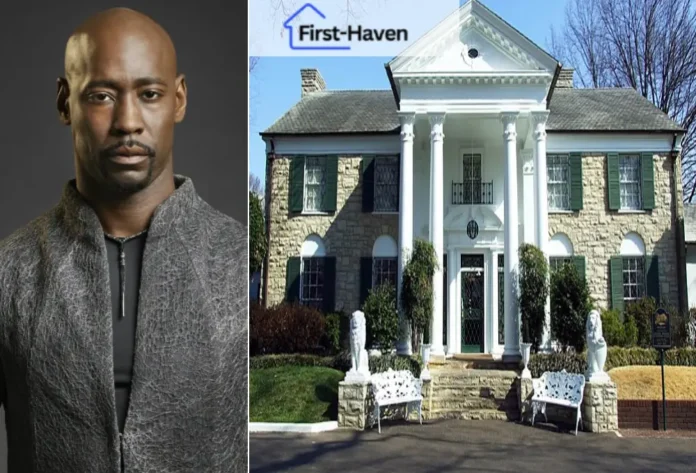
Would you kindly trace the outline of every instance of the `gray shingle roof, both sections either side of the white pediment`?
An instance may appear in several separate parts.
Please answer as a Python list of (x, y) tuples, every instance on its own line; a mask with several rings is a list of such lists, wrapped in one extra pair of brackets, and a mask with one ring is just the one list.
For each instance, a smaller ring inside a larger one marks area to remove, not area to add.
[[(549, 131), (683, 131), (633, 89), (556, 89)], [(262, 134), (396, 133), (391, 90), (336, 90), (303, 97)]]

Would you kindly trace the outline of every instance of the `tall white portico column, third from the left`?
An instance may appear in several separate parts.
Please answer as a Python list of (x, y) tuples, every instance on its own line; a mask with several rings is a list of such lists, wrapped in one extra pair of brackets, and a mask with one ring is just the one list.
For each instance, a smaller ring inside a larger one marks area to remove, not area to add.
[(520, 333), (517, 309), (519, 227), (517, 218), (517, 116), (501, 114), (505, 138), (505, 350), (504, 358), (519, 359)]

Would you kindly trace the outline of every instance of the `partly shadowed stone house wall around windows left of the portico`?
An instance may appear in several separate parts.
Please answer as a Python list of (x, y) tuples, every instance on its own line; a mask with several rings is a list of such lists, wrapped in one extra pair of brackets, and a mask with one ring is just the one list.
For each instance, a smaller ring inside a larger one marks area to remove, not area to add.
[(289, 213), (289, 158), (291, 157), (276, 157), (272, 170), (268, 173), (268, 177), (272, 179), (268, 305), (278, 304), (285, 298), (288, 257), (299, 256), (302, 242), (309, 235), (317, 234), (324, 242), (326, 254), (337, 257), (336, 310), (352, 313), (359, 309), (360, 257), (372, 255), (372, 246), (381, 235), (389, 235), (398, 242), (398, 215), (362, 211), (361, 156), (340, 156), (338, 159), (335, 214)]

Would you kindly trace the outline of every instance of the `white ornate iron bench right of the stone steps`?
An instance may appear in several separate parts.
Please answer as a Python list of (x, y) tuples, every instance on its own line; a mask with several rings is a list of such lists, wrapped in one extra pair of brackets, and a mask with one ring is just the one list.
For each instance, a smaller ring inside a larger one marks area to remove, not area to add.
[(578, 435), (578, 425), (582, 418), (582, 396), (585, 391), (585, 376), (582, 374), (563, 371), (546, 371), (538, 379), (532, 380), (534, 394), (532, 395), (532, 425), (538, 412), (546, 417), (546, 404), (575, 409), (575, 435)]

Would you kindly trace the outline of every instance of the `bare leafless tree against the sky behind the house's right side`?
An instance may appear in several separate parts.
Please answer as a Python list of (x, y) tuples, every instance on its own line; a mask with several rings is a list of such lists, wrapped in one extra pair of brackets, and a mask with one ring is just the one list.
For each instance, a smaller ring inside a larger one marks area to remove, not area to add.
[(696, 190), (696, 9), (692, 0), (571, 0), (551, 51), (582, 87), (632, 87), (679, 123), (684, 198)]

